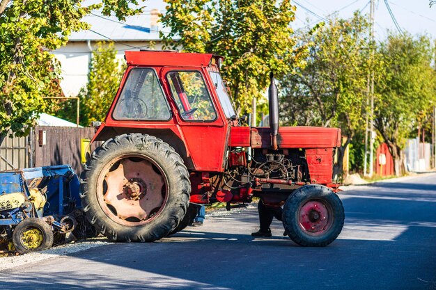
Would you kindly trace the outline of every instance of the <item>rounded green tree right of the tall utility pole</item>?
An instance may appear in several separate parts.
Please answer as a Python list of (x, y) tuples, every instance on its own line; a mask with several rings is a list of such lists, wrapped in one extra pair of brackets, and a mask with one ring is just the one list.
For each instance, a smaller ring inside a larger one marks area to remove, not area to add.
[(375, 86), (375, 128), (387, 143), (400, 176), (405, 140), (436, 104), (435, 50), (427, 36), (391, 33), (378, 54), (385, 63), (385, 77)]

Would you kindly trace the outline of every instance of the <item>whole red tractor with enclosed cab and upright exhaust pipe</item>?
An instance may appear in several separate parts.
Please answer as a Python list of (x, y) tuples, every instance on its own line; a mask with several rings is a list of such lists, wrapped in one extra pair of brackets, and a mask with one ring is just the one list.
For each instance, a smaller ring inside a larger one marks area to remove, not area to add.
[(221, 56), (126, 51), (127, 70), (93, 141), (81, 202), (113, 241), (155, 241), (184, 229), (201, 204), (254, 197), (283, 207), (299, 245), (324, 246), (344, 211), (332, 182), (336, 128), (281, 127), (271, 76), (270, 127), (242, 126), (219, 74)]

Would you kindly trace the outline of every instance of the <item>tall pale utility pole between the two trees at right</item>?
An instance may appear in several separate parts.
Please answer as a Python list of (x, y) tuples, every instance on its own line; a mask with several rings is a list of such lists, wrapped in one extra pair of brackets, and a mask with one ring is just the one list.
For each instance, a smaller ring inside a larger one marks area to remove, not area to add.
[(373, 62), (374, 62), (374, 10), (375, 10), (375, 3), (374, 0), (371, 0), (371, 12), (370, 12), (370, 21), (371, 21), (371, 31), (370, 31), (370, 41), (371, 41), (371, 115), (370, 115), (370, 136), (369, 136), (369, 177), (373, 176), (374, 172), (374, 166), (373, 166), (373, 159), (374, 159), (374, 139), (375, 139), (375, 132), (374, 132), (374, 68), (373, 68)]

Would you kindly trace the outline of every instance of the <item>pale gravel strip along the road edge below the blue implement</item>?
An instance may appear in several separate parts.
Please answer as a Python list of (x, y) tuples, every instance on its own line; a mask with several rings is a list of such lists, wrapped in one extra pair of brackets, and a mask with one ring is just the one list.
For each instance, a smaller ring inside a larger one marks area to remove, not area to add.
[(105, 241), (84, 241), (80, 243), (60, 245), (42, 252), (31, 252), (20, 256), (0, 257), (0, 271), (110, 244), (111, 243)]

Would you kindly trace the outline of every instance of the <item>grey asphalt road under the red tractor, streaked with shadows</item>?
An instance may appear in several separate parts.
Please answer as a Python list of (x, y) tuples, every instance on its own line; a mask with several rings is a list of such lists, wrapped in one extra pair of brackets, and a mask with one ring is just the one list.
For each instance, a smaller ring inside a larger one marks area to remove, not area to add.
[(0, 273), (0, 289), (436, 289), (436, 174), (348, 188), (325, 248), (252, 239), (256, 208), (155, 243), (114, 243)]

